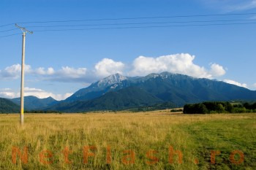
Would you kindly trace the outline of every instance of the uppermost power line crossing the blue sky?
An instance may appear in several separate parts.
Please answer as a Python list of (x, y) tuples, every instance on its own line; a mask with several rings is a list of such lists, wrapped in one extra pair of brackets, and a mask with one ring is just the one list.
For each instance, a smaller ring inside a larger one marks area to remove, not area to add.
[[(230, 15), (256, 15), (252, 13), (236, 13), (236, 14), (211, 14), (211, 15), (173, 15), (173, 16), (159, 16), (159, 17), (138, 17), (138, 18), (101, 18), (101, 19), (84, 19), (84, 20), (49, 20), (49, 21), (31, 21), (31, 22), (20, 22), (25, 23), (68, 23), (68, 22), (81, 22), (81, 21), (102, 21), (102, 20), (141, 20), (141, 19), (157, 19), (157, 18), (193, 18), (193, 17), (213, 17), (213, 16), (230, 16)], [(11, 26), (15, 23), (10, 23), (4, 26)]]

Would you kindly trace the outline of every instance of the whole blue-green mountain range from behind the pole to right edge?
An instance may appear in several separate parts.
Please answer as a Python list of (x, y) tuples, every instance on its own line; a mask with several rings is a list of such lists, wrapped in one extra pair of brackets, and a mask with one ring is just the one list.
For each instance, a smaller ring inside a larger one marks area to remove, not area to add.
[[(255, 101), (256, 91), (218, 80), (162, 72), (145, 77), (113, 74), (75, 92), (64, 101), (25, 98), (25, 108), (86, 112), (165, 104), (181, 107), (201, 101)], [(12, 99), (19, 104), (19, 98)]]

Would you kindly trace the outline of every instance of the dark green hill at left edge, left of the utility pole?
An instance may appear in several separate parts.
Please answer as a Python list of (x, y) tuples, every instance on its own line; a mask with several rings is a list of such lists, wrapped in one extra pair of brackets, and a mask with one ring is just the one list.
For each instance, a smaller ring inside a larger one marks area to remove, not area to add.
[(0, 98), (0, 113), (18, 113), (20, 107), (6, 98)]

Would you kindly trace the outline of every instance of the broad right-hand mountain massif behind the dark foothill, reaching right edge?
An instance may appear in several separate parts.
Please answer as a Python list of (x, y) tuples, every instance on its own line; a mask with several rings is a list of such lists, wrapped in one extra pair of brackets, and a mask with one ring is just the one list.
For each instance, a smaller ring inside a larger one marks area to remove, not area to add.
[[(149, 74), (136, 80), (124, 80), (116, 89), (136, 86), (163, 101), (182, 106), (200, 101), (256, 100), (256, 91), (217, 80), (197, 79), (182, 74)], [(114, 84), (115, 85), (115, 84)]]

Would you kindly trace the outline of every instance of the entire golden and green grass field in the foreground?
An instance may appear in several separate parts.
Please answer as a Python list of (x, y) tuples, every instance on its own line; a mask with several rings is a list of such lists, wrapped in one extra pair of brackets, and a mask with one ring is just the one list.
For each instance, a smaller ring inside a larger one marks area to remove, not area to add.
[[(256, 169), (253, 113), (26, 114), (23, 128), (18, 121), (0, 115), (0, 169)], [(15, 147), (27, 147), (27, 163), (19, 155), (14, 163)]]

